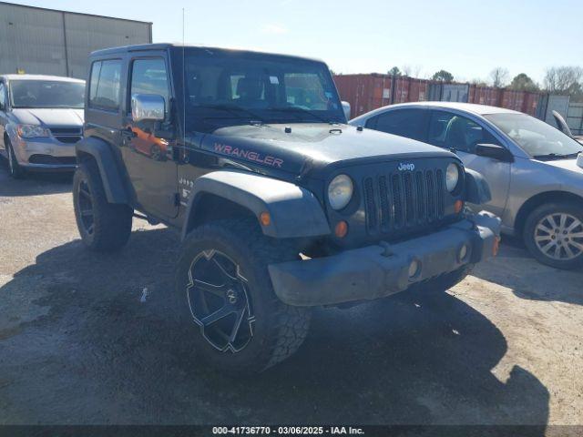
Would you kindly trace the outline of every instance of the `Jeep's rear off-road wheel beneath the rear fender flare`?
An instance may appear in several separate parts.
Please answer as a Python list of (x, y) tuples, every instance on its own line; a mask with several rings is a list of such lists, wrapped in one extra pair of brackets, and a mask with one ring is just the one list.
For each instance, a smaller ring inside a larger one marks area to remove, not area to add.
[[(87, 199), (92, 209), (88, 225)], [(73, 204), (77, 228), (88, 249), (115, 251), (126, 245), (131, 234), (133, 209), (128, 205), (107, 202), (103, 182), (95, 161), (83, 160), (73, 177)]]

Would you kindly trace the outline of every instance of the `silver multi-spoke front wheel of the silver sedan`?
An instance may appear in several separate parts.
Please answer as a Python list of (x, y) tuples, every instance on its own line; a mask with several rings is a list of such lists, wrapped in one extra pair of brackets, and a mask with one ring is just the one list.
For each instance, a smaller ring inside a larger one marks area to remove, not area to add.
[(583, 266), (583, 207), (568, 203), (538, 207), (528, 216), (524, 239), (543, 264), (557, 269)]

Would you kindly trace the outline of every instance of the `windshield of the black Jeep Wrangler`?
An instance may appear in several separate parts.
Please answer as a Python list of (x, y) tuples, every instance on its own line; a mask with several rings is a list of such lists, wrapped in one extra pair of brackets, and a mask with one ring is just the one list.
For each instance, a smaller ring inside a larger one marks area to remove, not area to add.
[(345, 122), (332, 76), (322, 62), (196, 48), (187, 48), (184, 56), (185, 101), (177, 103), (184, 103), (188, 129)]

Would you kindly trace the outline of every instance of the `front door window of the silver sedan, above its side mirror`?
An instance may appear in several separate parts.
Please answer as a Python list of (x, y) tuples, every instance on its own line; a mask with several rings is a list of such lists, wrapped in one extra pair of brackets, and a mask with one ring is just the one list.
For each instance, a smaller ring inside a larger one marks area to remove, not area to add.
[(427, 142), (466, 153), (476, 153), (478, 144), (500, 144), (475, 121), (443, 111), (432, 112)]

